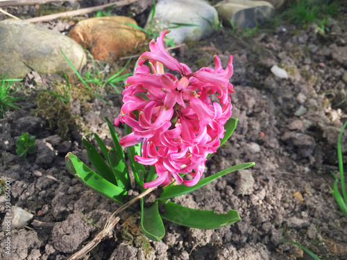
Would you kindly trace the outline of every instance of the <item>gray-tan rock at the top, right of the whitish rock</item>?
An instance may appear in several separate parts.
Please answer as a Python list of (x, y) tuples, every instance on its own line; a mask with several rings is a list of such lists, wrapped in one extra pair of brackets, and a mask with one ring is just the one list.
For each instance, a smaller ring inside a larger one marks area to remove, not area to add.
[(217, 10), (227, 26), (253, 28), (271, 17), (275, 8), (267, 1), (226, 0), (217, 5)]

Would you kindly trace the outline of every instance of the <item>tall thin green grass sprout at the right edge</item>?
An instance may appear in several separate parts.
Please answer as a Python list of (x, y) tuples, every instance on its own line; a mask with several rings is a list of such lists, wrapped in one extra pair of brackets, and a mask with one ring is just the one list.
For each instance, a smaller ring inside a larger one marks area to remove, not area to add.
[(344, 133), (344, 130), (346, 128), (347, 121), (344, 123), (344, 127), (342, 128), (339, 140), (337, 141), (337, 158), (339, 159), (339, 172), (340, 172), (340, 179), (341, 179), (341, 189), (343, 197), (341, 196), (341, 193), (339, 192), (339, 188), (337, 184), (339, 183), (339, 178), (332, 172), (330, 173), (335, 177), (334, 187), (333, 189), (330, 189), (332, 196), (334, 196), (335, 200), (337, 201), (337, 204), (339, 205), (340, 209), (344, 212), (345, 216), (347, 217), (347, 193), (346, 193), (346, 184), (344, 179), (344, 162), (342, 160), (342, 152), (341, 152), (341, 137)]

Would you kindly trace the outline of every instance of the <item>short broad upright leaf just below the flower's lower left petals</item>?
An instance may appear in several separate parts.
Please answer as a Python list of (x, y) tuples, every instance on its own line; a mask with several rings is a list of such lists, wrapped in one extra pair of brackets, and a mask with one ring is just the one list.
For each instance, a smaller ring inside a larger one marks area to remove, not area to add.
[(128, 173), (128, 168), (126, 167), (126, 164), (124, 164), (119, 154), (113, 150), (113, 148), (108, 152), (108, 160), (113, 173), (115, 173), (118, 186), (121, 189), (130, 189), (130, 176)]

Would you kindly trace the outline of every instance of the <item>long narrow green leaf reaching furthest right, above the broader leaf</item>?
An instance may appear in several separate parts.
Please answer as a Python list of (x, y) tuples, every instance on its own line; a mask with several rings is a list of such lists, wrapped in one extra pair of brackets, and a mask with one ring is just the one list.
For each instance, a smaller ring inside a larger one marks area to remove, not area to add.
[(162, 188), (162, 194), (160, 194), (160, 197), (157, 198), (157, 200), (164, 200), (167, 198), (174, 198), (177, 196), (181, 196), (185, 193), (189, 193), (192, 191), (195, 191), (196, 189), (203, 187), (204, 185), (212, 182), (213, 180), (216, 180), (217, 178), (226, 175), (228, 173), (232, 173), (233, 171), (239, 171), (244, 168), (248, 168), (255, 165), (254, 162), (247, 162), (245, 164), (237, 164), (235, 166), (232, 166), (230, 168), (226, 168), (223, 171), (220, 171), (219, 173), (215, 173), (214, 175), (211, 175), (209, 177), (205, 177), (202, 180), (199, 180), (197, 184), (195, 184), (192, 187), (187, 187), (185, 185), (170, 185), (167, 187)]

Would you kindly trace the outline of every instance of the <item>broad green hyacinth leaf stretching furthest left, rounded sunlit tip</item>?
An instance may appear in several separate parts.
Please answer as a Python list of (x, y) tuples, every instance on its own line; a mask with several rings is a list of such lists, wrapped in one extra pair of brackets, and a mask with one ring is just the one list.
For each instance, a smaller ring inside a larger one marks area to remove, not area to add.
[(124, 191), (124, 189), (108, 182), (108, 180), (105, 180), (103, 177), (92, 171), (88, 166), (83, 164), (76, 155), (68, 153), (65, 156), (65, 164), (69, 172), (77, 177), (78, 180), (87, 184), (87, 186), (101, 193), (103, 196), (106, 196), (120, 204), (124, 204), (123, 199), (126, 196), (127, 191)]

